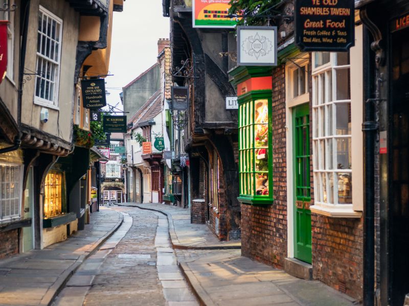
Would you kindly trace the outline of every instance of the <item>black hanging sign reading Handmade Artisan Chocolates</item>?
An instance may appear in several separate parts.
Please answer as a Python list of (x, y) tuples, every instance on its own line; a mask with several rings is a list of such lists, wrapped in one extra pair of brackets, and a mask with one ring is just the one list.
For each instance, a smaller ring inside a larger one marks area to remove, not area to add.
[(105, 80), (82, 80), (82, 105), (88, 109), (99, 109), (106, 106)]

